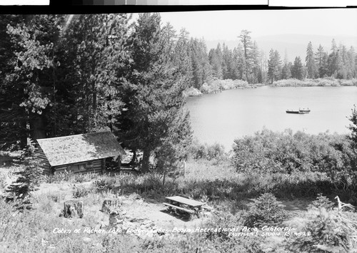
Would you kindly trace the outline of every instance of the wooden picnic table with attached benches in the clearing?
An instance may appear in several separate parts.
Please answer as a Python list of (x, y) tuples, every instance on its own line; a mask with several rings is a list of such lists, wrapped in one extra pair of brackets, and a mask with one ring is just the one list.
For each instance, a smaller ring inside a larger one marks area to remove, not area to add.
[[(190, 215), (195, 214), (198, 217), (202, 210), (202, 206), (205, 204), (203, 202), (190, 200), (181, 196), (166, 197), (166, 201), (167, 202), (164, 202), (164, 205), (168, 206), (170, 209), (174, 208), (176, 210), (188, 212)], [(182, 207), (182, 205), (186, 207)]]

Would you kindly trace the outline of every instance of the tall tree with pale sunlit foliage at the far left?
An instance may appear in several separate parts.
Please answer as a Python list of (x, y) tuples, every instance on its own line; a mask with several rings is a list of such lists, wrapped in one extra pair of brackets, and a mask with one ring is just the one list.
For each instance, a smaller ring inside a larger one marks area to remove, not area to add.
[[(6, 107), (4, 127), (12, 126), (21, 135), (21, 143), (26, 137), (46, 138), (46, 119), (53, 105), (55, 77), (58, 65), (54, 56), (54, 43), (61, 33), (63, 16), (27, 16), (16, 26), (7, 26), (7, 33), (13, 43), (13, 52), (4, 73), (3, 91), (16, 91), (10, 102), (2, 101)], [(9, 93), (10, 94), (10, 93)], [(11, 115), (11, 116), (10, 116)], [(12, 118), (12, 119), (11, 119)]]

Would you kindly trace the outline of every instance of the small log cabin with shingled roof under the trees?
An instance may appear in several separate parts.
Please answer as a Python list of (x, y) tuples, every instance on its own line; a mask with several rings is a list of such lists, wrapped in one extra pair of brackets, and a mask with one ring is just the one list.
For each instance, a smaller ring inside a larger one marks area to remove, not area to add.
[(104, 172), (106, 158), (126, 155), (111, 132), (38, 139), (36, 155), (44, 174)]

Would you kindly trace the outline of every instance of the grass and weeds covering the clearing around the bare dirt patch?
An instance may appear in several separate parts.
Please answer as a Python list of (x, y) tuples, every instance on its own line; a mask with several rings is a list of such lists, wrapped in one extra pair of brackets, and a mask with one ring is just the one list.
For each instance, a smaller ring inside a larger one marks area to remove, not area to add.
[[(141, 239), (125, 234), (76, 234), (74, 229), (98, 227), (108, 217), (102, 212), (105, 198), (118, 195), (141, 195), (146, 200), (162, 202), (170, 195), (186, 195), (208, 202), (217, 212), (208, 220), (210, 227), (242, 225), (251, 198), (272, 192), (278, 199), (316, 197), (333, 194), (333, 183), (319, 172), (238, 173), (226, 158), (188, 160), (186, 175), (166, 178), (158, 173), (147, 175), (73, 175), (44, 177), (55, 190), (36, 192), (31, 210), (19, 212), (0, 201), (0, 252), (261, 252), (262, 238), (228, 237), (227, 234), (192, 233)], [(91, 182), (91, 183), (88, 183)], [(69, 185), (76, 185), (75, 189)], [(83, 219), (59, 217), (63, 202), (73, 199), (73, 191), (84, 202)], [(83, 189), (84, 189), (83, 188)], [(336, 192), (334, 192), (336, 193)], [(145, 207), (143, 207), (145, 208)], [(54, 233), (56, 227), (70, 234)], [(90, 242), (86, 242), (89, 241)], [(268, 243), (268, 242), (267, 242)], [(278, 246), (280, 244), (277, 244)], [(278, 247), (277, 246), (277, 247)]]

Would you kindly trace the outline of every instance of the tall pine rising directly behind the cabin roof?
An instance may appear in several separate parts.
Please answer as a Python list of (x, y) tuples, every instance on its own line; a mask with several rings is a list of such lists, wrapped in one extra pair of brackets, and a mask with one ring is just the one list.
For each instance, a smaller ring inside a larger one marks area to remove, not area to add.
[[(61, 92), (71, 93), (58, 105), (71, 104), (64, 118), (67, 126), (72, 125), (70, 129), (75, 128), (74, 133), (111, 128), (121, 113), (124, 104), (118, 86), (130, 61), (126, 46), (129, 18), (127, 14), (80, 15), (69, 24), (62, 41), (67, 51), (62, 69), (70, 71), (66, 71), (66, 89)], [(61, 134), (66, 134), (66, 125)]]

